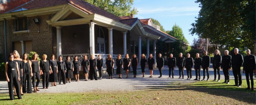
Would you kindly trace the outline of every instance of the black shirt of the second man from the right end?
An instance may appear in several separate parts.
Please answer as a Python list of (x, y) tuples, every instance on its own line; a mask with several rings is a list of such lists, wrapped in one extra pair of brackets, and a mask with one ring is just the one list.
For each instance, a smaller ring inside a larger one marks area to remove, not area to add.
[(232, 55), (231, 64), (232, 68), (241, 67), (244, 63), (244, 58), (242, 54)]

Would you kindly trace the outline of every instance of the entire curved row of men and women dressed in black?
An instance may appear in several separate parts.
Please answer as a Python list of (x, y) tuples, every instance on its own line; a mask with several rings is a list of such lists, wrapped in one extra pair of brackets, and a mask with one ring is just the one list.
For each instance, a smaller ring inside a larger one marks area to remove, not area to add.
[[(229, 84), (229, 70), (232, 67), (232, 71), (235, 77), (235, 85), (241, 87), (242, 79), (241, 79), (241, 66), (243, 65), (243, 73), (245, 73), (246, 81), (248, 88), (250, 89), (249, 77), (251, 80), (251, 90), (253, 90), (253, 72), (255, 73), (256, 68), (256, 58), (251, 54), (250, 49), (246, 50), (247, 56), (243, 58), (241, 54), (238, 53), (238, 49), (234, 49), (234, 55), (228, 55), (228, 50), (224, 51), (225, 55), (220, 56), (220, 51), (215, 50), (212, 65), (214, 69), (214, 80), (220, 81), (220, 69), (223, 69), (223, 73), (225, 76), (225, 81), (223, 83)], [(24, 53), (22, 58), (20, 58), (19, 53), (15, 50), (13, 53), (9, 54), (9, 61), (5, 64), (5, 74), (6, 80), (8, 82), (9, 88), (9, 96), (10, 99), (14, 99), (14, 95), (17, 95), (18, 99), (21, 99), (21, 95), (24, 93), (32, 93), (40, 91), (38, 89), (38, 85), (40, 82), (40, 76), (42, 76), (42, 85), (43, 89), (48, 89), (49, 82), (51, 82), (52, 86), (56, 86), (56, 82), (59, 80), (59, 84), (61, 84), (61, 80), (63, 84), (67, 82), (71, 82), (71, 79), (74, 78), (78, 82), (79, 74), (82, 66), (82, 70), (85, 76), (85, 81), (88, 81), (88, 73), (90, 71), (90, 79), (98, 80), (102, 79), (102, 67), (103, 60), (101, 55), (98, 55), (98, 59), (94, 58), (94, 55), (90, 56), (90, 60), (87, 59), (85, 55), (80, 62), (77, 56), (74, 56), (74, 60), (70, 60), (70, 56), (66, 57), (66, 61), (62, 60), (62, 56), (58, 57), (58, 61), (55, 60), (55, 56), (51, 55), (51, 59), (46, 60), (47, 55), (43, 54), (42, 60), (38, 60), (38, 55), (33, 54), (31, 60), (28, 59), (28, 54)], [(40, 62), (40, 63), (39, 63)], [(130, 65), (133, 69), (133, 77), (136, 78), (137, 75), (137, 67), (138, 67), (138, 58), (136, 54), (132, 56), (132, 59), (129, 58), (128, 54), (125, 54), (125, 58), (121, 58), (121, 55), (118, 54), (116, 61), (109, 54), (105, 65), (106, 71), (109, 75), (109, 79), (113, 79), (114, 74), (114, 64), (116, 63), (116, 74), (119, 74), (120, 79), (122, 79), (123, 69), (126, 71), (126, 78), (128, 78), (128, 73), (130, 70)], [(158, 54), (157, 59), (157, 67), (160, 73), (158, 78), (162, 78), (162, 68), (164, 67), (164, 58), (162, 54)], [(155, 59), (152, 54), (149, 55), (148, 59), (144, 54), (141, 55), (140, 66), (143, 74), (143, 78), (145, 77), (145, 67), (148, 66), (150, 71), (150, 76), (153, 77), (153, 68), (155, 64)], [(203, 69), (203, 79), (205, 80), (205, 71), (207, 72), (207, 80), (209, 81), (209, 67), (210, 67), (210, 56), (207, 55), (207, 51), (204, 51), (204, 56), (202, 58), (199, 57), (199, 54), (196, 54), (196, 58), (193, 59), (190, 57), (190, 54), (187, 54), (187, 58), (182, 56), (182, 53), (179, 54), (179, 57), (173, 57), (173, 54), (170, 54), (170, 58), (168, 58), (168, 68), (169, 68), (169, 77), (174, 78), (174, 68), (177, 66), (179, 69), (179, 78), (182, 77), (184, 79), (184, 68), (186, 68), (188, 80), (192, 79), (192, 68), (194, 65), (196, 78), (194, 80), (199, 80), (201, 77), (201, 68)], [(99, 78), (97, 78), (96, 69), (99, 71)], [(216, 80), (216, 73), (218, 73), (218, 80)], [(31, 86), (31, 77), (34, 91), (32, 91)], [(37, 82), (35, 83), (35, 80)], [(65, 80), (66, 79), (66, 80)], [(13, 94), (14, 90), (14, 94)]]

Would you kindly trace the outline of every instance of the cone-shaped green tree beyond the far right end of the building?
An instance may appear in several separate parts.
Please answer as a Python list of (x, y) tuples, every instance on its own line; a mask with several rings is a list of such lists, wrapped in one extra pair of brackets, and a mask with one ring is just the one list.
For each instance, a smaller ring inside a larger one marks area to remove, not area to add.
[(188, 43), (187, 39), (184, 37), (182, 29), (176, 23), (172, 26), (172, 30), (168, 34), (177, 38), (180, 41)]

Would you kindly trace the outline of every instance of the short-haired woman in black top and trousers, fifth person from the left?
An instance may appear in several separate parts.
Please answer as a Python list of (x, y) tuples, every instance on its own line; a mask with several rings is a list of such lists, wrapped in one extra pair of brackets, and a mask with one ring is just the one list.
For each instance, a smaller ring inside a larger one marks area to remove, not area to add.
[(51, 74), (52, 71), (50, 71), (49, 61), (46, 60), (47, 55), (43, 54), (42, 58), (43, 58), (43, 60), (41, 60), (41, 62), (40, 62), (40, 69), (41, 69), (42, 78), (43, 78), (43, 89), (45, 89), (45, 86), (46, 86), (46, 89), (48, 89), (48, 87), (49, 87), (49, 74)]

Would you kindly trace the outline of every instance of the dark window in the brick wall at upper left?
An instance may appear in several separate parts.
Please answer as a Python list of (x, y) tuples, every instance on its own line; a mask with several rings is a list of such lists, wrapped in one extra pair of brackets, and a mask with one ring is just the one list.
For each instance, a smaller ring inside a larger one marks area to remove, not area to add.
[(27, 17), (16, 19), (16, 31), (23, 31), (27, 29)]

